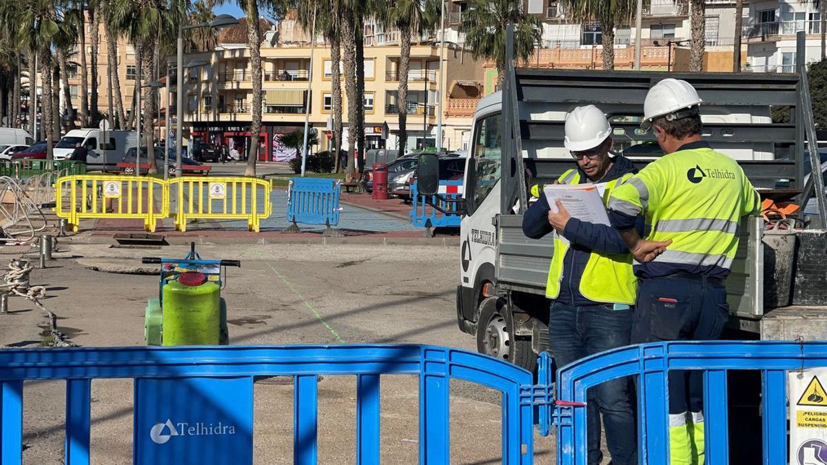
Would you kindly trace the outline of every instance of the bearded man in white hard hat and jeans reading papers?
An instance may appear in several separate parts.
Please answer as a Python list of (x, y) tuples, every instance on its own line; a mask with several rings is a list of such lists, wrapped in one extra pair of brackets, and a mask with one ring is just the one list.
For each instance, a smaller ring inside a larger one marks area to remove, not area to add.
[[(576, 165), (556, 184), (593, 183), (602, 190), (604, 204), (613, 189), (637, 172), (623, 156), (609, 156), (612, 128), (594, 105), (574, 108), (567, 115), (564, 142)], [(551, 299), (548, 339), (557, 367), (629, 345), (637, 278), (620, 233), (608, 224), (572, 218), (559, 201), (557, 213), (552, 212), (542, 185), (532, 187), (532, 196), (537, 201), (523, 216), (523, 232), (534, 239), (556, 232), (546, 295)], [(643, 221), (640, 228), (643, 231)], [(601, 463), (603, 458), (598, 412), (603, 417), (611, 463), (638, 463), (630, 391), (627, 378), (590, 389), (586, 406), (590, 465)]]

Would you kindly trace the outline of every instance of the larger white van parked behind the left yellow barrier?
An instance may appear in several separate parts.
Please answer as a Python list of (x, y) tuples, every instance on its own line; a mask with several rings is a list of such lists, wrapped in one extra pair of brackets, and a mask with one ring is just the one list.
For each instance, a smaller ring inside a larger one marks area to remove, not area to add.
[[(104, 136), (109, 140), (108, 144), (104, 143)], [(134, 131), (73, 129), (66, 132), (64, 137), (60, 137), (60, 141), (55, 145), (55, 160), (68, 158), (77, 144), (86, 146), (88, 169), (103, 169), (104, 156), (107, 169), (112, 169), (127, 155), (127, 150), (138, 145), (138, 137)]]

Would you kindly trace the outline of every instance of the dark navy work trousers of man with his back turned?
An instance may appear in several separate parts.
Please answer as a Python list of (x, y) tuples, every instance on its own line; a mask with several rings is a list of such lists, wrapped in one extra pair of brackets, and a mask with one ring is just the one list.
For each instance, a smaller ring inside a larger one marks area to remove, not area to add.
[[(707, 341), (719, 338), (729, 319), (726, 289), (701, 276), (642, 279), (632, 325), (632, 343)], [(669, 413), (702, 410), (703, 372), (671, 371)]]

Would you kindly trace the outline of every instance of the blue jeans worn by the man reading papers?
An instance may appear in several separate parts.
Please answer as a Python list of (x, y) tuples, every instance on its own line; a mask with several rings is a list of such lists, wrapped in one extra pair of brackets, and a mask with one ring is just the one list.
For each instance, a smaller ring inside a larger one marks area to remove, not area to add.
[[(552, 302), (550, 312), (548, 340), (558, 368), (598, 352), (629, 345), (631, 309), (613, 310), (609, 305), (572, 306)], [(636, 465), (637, 427), (629, 397), (628, 378), (606, 381), (589, 390), (586, 438), (590, 465), (603, 460), (598, 411), (603, 415), (606, 446), (612, 465)]]

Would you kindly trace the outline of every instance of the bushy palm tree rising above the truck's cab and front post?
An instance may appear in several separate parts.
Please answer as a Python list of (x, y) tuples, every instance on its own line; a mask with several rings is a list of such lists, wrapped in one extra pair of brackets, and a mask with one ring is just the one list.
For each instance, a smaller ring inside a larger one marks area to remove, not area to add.
[(505, 26), (514, 24), (514, 59), (526, 63), (540, 41), (540, 20), (523, 12), (522, 0), (471, 0), (466, 13), (462, 18), (466, 45), (475, 60), (494, 60), (497, 86), (501, 88), (505, 79)]

